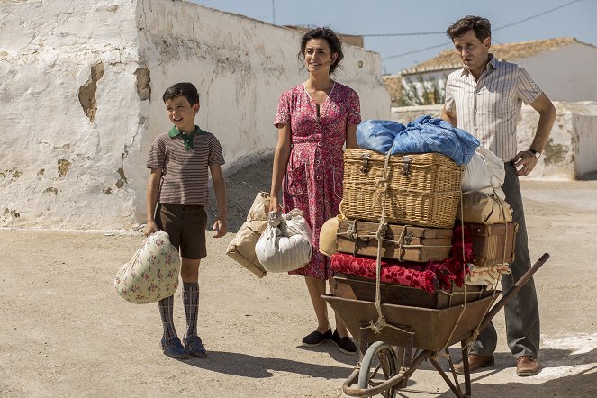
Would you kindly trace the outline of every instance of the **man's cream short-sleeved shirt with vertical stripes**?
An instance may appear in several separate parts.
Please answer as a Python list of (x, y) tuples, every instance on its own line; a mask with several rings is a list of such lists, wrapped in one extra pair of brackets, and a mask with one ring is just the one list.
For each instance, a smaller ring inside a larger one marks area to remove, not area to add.
[(504, 162), (517, 154), (516, 124), (522, 102), (530, 104), (543, 94), (529, 73), (517, 64), (489, 63), (475, 81), (466, 68), (450, 73), (446, 83), (446, 109), (456, 111), (457, 127), (469, 131)]

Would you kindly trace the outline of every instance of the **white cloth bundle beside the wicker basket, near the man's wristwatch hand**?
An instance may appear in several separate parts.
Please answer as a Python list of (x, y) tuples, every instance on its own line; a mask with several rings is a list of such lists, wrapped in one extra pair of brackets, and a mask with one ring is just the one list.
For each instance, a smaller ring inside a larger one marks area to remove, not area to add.
[(502, 191), (505, 178), (502, 159), (490, 150), (478, 147), (462, 174), (462, 192), (481, 191), (484, 194), (497, 194), (505, 199)]

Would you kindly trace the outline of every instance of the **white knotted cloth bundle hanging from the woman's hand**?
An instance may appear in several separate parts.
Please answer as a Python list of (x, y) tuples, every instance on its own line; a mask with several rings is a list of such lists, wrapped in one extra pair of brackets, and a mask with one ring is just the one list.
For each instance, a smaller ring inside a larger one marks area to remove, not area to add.
[(312, 256), (312, 231), (303, 212), (293, 209), (286, 214), (267, 214), (267, 228), (255, 254), (268, 272), (288, 272), (305, 266)]

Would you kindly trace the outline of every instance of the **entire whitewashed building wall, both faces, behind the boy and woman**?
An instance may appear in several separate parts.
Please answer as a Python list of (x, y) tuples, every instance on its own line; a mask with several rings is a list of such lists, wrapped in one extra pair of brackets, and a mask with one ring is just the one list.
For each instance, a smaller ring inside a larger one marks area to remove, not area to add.
[[(300, 33), (170, 0), (0, 0), (0, 226), (143, 222), (161, 95), (191, 81), (227, 167), (272, 150), (280, 93), (306, 74)], [(347, 46), (341, 83), (388, 118), (378, 54)]]

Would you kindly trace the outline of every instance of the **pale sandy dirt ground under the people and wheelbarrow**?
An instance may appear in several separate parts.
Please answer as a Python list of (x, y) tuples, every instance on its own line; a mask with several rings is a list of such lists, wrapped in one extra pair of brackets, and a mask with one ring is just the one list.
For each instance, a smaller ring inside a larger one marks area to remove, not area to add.
[[(344, 396), (358, 357), (331, 343), (301, 347), (315, 327), (303, 279), (258, 279), (224, 254), (270, 170), (264, 158), (228, 176), (231, 232), (208, 234), (200, 270), (204, 359), (164, 356), (157, 304), (116, 294), (114, 275), (140, 246), (139, 231), (0, 230), (0, 396)], [(515, 374), (498, 313), (496, 366), (473, 375), (473, 395), (597, 396), (597, 181), (522, 186), (531, 256), (551, 255), (535, 276), (543, 370)], [(182, 335), (179, 292), (175, 321)], [(398, 396), (453, 395), (424, 364)]]

